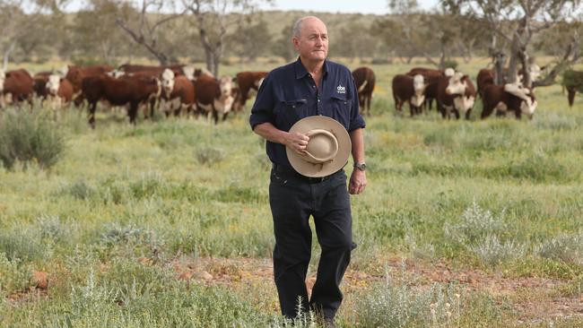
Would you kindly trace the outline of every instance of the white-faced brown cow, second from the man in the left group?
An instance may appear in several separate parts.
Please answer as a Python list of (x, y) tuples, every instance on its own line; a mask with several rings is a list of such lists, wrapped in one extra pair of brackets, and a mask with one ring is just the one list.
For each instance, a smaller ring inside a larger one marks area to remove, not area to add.
[(219, 116), (223, 121), (227, 118), (234, 102), (231, 77), (216, 80), (203, 74), (195, 81), (195, 91), (198, 113), (205, 113), (209, 120), (213, 117), (214, 124), (218, 123)]

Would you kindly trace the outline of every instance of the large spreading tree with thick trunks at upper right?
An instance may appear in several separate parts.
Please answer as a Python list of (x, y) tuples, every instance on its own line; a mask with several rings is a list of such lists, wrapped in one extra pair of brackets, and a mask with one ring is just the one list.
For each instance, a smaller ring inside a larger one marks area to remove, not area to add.
[[(578, 39), (572, 39), (565, 49), (561, 62), (557, 63), (551, 73), (540, 82), (532, 82), (529, 69), (528, 46), (535, 34), (549, 29), (558, 22), (575, 20), (578, 13), (579, 0), (441, 0), (443, 7), (449, 13), (467, 15), (481, 19), (484, 28), (491, 29), (491, 56), (497, 65), (497, 82), (501, 82), (501, 66), (509, 53), (509, 70), (507, 81), (517, 82), (518, 64), (522, 65), (523, 84), (527, 88), (549, 85), (559, 73), (560, 67), (576, 61), (579, 54)], [(498, 38), (506, 41), (506, 51), (498, 43)]]

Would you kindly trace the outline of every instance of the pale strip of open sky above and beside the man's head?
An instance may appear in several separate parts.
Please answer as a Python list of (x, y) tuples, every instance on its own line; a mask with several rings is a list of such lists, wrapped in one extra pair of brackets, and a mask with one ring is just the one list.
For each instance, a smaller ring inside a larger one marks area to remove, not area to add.
[[(422, 9), (431, 9), (438, 0), (417, 0)], [(274, 0), (274, 5), (262, 5), (264, 10), (304, 10), (328, 13), (388, 13), (387, 0)]]

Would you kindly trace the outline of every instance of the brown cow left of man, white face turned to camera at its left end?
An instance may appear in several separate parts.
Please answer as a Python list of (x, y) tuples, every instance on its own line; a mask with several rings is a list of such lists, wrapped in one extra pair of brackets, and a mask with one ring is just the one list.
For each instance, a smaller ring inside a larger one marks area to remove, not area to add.
[(161, 107), (166, 116), (170, 116), (170, 113), (178, 116), (182, 111), (190, 114), (195, 106), (194, 84), (184, 75), (176, 76), (170, 69), (164, 70), (161, 76)]

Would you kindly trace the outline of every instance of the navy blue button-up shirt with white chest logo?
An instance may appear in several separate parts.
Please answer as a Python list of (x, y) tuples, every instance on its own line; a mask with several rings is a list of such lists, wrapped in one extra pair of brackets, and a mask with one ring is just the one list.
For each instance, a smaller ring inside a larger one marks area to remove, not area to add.
[[(296, 62), (278, 67), (265, 77), (251, 109), (249, 124), (255, 129), (256, 125), (269, 122), (288, 132), (301, 118), (315, 115), (334, 118), (349, 133), (365, 126), (350, 70), (326, 60), (322, 82), (317, 87), (298, 58)], [(283, 144), (267, 141), (266, 151), (275, 164), (292, 167)]]

